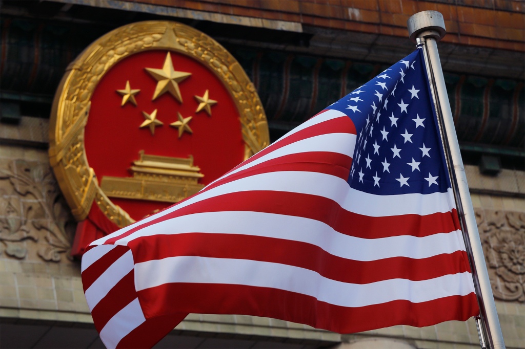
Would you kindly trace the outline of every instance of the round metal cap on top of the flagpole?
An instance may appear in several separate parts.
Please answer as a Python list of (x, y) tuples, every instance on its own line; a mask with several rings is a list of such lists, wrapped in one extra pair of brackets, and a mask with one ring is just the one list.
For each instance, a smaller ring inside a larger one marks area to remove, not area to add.
[(406, 21), (408, 36), (413, 42), (417, 38), (432, 37), (436, 41), (441, 40), (447, 33), (443, 15), (437, 11), (418, 12)]

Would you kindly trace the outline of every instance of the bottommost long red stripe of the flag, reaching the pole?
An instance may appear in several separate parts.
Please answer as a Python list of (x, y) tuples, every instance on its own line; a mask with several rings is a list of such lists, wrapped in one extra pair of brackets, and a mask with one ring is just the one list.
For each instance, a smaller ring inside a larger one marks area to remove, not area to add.
[[(429, 326), (443, 321), (466, 321), (478, 315), (474, 292), (428, 302), (396, 300), (348, 308), (317, 301), (300, 293), (210, 283), (169, 283), (139, 291), (146, 319), (171, 312), (244, 314), (308, 324), (339, 333), (353, 333), (405, 324)], [(349, 295), (351, 297), (351, 295)]]

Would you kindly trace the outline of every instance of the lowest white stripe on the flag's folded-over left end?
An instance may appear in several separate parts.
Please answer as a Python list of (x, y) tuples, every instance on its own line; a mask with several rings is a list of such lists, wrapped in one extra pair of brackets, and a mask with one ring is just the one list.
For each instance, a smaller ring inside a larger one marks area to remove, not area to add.
[(135, 298), (108, 321), (100, 331), (100, 339), (108, 349), (115, 348), (126, 335), (138, 328), (144, 321), (146, 319), (139, 299)]

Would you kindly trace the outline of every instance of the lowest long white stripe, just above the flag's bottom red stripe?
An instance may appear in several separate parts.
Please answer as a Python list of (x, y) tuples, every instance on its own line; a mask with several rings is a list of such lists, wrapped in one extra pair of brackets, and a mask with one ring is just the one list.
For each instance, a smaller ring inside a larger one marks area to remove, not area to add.
[(364, 307), (393, 300), (419, 303), (474, 292), (469, 272), (423, 281), (390, 279), (359, 285), (331, 280), (315, 271), (289, 265), (195, 256), (138, 263), (135, 275), (137, 290), (170, 282), (223, 283), (302, 293), (342, 307)]

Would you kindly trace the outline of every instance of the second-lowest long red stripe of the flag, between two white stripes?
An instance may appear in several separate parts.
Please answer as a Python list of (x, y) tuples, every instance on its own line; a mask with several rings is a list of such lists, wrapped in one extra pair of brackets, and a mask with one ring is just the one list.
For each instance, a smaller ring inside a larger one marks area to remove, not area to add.
[(135, 263), (176, 256), (249, 259), (296, 266), (332, 280), (359, 284), (397, 278), (419, 281), (470, 271), (463, 251), (423, 259), (358, 261), (304, 242), (238, 234), (155, 235), (135, 239), (128, 246), (134, 251)]

